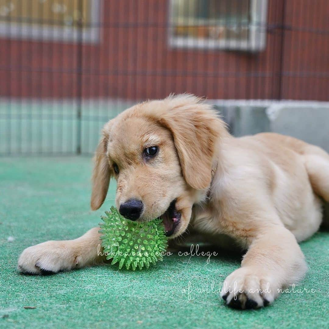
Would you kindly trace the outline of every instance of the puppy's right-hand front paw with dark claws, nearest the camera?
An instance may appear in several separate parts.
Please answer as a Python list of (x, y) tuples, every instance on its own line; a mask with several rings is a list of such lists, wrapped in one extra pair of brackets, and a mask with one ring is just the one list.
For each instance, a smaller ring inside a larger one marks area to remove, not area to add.
[(251, 309), (271, 304), (278, 289), (273, 275), (254, 267), (241, 267), (225, 279), (220, 295), (233, 308)]

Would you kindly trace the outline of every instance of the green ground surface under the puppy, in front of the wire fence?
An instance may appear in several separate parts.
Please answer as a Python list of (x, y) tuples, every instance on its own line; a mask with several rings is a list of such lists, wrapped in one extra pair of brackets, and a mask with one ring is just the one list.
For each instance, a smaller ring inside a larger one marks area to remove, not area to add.
[(207, 257), (176, 254), (135, 272), (106, 265), (20, 275), (24, 248), (79, 237), (113, 204), (112, 183), (102, 208), (90, 211), (90, 172), (83, 157), (0, 159), (0, 327), (328, 327), (328, 232), (301, 244), (310, 269), (298, 288), (314, 292), (283, 293), (259, 310), (230, 309), (219, 298), (218, 285), (240, 263), (225, 252), (209, 264)]

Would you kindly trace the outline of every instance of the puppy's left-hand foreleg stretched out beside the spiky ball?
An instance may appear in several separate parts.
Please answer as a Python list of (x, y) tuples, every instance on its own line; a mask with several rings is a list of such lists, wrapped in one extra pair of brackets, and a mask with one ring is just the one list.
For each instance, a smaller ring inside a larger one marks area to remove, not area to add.
[(48, 274), (99, 263), (106, 257), (98, 230), (99, 227), (94, 227), (78, 239), (46, 241), (26, 248), (18, 259), (18, 270)]

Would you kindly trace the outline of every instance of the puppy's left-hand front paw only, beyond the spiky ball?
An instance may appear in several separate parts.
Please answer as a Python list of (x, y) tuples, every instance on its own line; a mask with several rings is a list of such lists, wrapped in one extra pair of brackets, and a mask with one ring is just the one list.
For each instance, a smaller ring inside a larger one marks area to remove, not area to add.
[(26, 248), (18, 259), (17, 268), (25, 274), (51, 274), (77, 267), (69, 241), (47, 241)]

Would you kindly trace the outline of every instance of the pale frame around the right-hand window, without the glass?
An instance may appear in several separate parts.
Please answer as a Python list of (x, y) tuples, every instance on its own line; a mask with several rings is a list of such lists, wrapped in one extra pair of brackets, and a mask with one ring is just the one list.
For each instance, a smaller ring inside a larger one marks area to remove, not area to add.
[[(247, 40), (212, 40), (195, 37), (177, 37), (173, 34), (173, 0), (169, 1), (168, 45), (172, 48), (223, 49), (240, 51), (262, 51), (266, 47), (266, 22), (268, 0), (250, 0), (249, 35)], [(259, 25), (259, 27), (257, 26)]]

